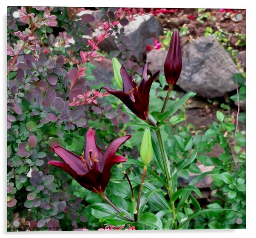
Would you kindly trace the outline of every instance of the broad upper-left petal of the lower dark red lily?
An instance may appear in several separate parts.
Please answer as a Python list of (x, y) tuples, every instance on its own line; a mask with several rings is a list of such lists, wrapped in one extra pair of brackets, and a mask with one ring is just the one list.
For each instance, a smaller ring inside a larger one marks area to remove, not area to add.
[(66, 150), (61, 146), (54, 146), (54, 152), (64, 160), (77, 174), (85, 174), (88, 170), (85, 168), (84, 163), (81, 161), (77, 154)]

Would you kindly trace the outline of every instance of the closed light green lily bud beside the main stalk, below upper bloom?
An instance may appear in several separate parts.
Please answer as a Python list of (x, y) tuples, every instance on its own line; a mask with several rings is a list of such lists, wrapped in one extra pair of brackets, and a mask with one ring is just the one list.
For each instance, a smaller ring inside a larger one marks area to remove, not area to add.
[(140, 157), (143, 165), (148, 165), (153, 159), (153, 147), (151, 142), (150, 129), (145, 129), (141, 147), (140, 147)]

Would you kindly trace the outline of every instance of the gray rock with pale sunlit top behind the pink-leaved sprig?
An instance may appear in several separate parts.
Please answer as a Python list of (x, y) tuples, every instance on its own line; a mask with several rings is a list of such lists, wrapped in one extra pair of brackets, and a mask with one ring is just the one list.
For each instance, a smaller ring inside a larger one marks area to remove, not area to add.
[[(125, 25), (125, 36), (128, 36), (132, 41), (130, 45), (133, 50), (134, 59), (137, 61), (142, 60), (143, 53), (146, 52), (148, 44), (154, 44), (154, 38), (158, 38), (161, 34), (162, 27), (158, 19), (154, 16), (144, 15), (135, 18), (128, 25)], [(119, 28), (122, 26), (119, 25)], [(100, 34), (100, 33), (98, 33)], [(99, 47), (105, 51), (118, 50), (114, 42), (115, 34), (108, 36), (103, 40)]]

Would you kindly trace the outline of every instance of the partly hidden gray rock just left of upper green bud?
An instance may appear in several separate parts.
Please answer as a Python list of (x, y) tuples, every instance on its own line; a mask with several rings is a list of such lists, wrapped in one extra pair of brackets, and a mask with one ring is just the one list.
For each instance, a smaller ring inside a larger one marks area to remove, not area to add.
[(90, 63), (97, 66), (92, 71), (92, 75), (95, 77), (95, 80), (87, 80), (86, 85), (91, 86), (103, 83), (105, 86), (110, 86), (111, 79), (114, 76), (112, 61), (104, 58), (101, 61), (93, 59)]

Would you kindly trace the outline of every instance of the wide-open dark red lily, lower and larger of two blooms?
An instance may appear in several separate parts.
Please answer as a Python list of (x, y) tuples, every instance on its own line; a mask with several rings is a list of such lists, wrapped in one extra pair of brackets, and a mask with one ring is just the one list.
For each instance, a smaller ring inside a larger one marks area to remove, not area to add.
[(85, 135), (83, 156), (74, 154), (61, 146), (54, 146), (54, 152), (64, 162), (51, 160), (48, 161), (48, 164), (55, 165), (67, 172), (84, 188), (94, 193), (102, 193), (108, 185), (111, 166), (126, 161), (125, 157), (115, 154), (117, 149), (129, 138), (131, 135), (125, 135), (112, 141), (103, 154), (96, 145), (95, 131), (90, 128)]

